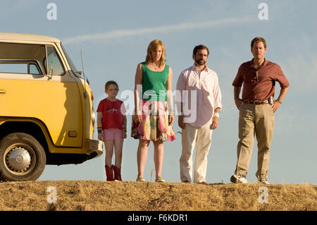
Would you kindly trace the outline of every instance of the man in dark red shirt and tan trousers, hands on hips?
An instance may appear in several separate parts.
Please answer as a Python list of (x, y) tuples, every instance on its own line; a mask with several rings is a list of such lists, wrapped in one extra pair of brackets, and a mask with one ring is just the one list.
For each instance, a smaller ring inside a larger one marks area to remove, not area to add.
[[(255, 37), (251, 41), (253, 59), (242, 63), (232, 85), (239, 117), (239, 142), (237, 144), (237, 166), (231, 176), (232, 183), (247, 183), (247, 170), (254, 144), (258, 142), (258, 170), (260, 183), (268, 184), (268, 164), (273, 137), (274, 113), (282, 104), (290, 85), (280, 66), (264, 58), (266, 41)], [(276, 100), (275, 82), (280, 84), (280, 95)], [(242, 99), (240, 90), (242, 89)]]

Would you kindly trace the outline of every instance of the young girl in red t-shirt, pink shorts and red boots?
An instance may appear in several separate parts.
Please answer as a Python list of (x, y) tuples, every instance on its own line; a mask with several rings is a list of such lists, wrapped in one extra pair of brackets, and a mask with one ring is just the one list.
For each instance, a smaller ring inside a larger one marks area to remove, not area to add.
[[(98, 139), (104, 140), (106, 147), (107, 181), (122, 181), (121, 161), (123, 139), (127, 138), (127, 118), (125, 116), (125, 104), (116, 99), (118, 91), (118, 84), (113, 80), (108, 81), (105, 85), (105, 92), (108, 97), (99, 102), (97, 109)], [(113, 147), (116, 154), (114, 165), (112, 165)]]

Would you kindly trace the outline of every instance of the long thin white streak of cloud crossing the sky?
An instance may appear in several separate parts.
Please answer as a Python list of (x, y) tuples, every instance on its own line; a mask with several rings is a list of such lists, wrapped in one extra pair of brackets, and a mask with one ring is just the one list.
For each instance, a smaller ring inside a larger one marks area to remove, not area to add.
[(77, 42), (85, 42), (90, 40), (107, 40), (118, 37), (131, 37), (136, 35), (146, 35), (152, 33), (163, 33), (170, 31), (192, 30), (201, 28), (211, 28), (219, 25), (232, 25), (237, 23), (249, 23), (254, 21), (254, 18), (226, 18), (221, 20), (208, 20), (199, 23), (180, 23), (176, 25), (162, 25), (156, 28), (139, 28), (135, 30), (113, 30), (111, 32), (97, 33), (92, 35), (78, 35), (63, 39), (63, 44), (73, 44)]

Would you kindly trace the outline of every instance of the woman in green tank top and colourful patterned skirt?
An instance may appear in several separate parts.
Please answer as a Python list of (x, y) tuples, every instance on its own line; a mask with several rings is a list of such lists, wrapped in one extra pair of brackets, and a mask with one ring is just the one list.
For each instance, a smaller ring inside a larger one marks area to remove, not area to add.
[(135, 74), (135, 113), (132, 119), (132, 137), (139, 139), (137, 148), (137, 181), (143, 178), (149, 142), (154, 144), (154, 164), (157, 182), (163, 166), (163, 142), (175, 140), (173, 72), (165, 63), (165, 47), (160, 40), (153, 40), (147, 48), (145, 62), (139, 63)]

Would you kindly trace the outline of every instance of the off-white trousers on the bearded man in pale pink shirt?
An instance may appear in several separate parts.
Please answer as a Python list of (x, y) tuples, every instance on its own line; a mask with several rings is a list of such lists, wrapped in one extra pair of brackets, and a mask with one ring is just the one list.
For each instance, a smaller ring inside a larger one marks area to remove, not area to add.
[(211, 145), (210, 128), (194, 128), (185, 123), (182, 129), (182, 155), (180, 157), (180, 180), (192, 182), (192, 153), (197, 142), (194, 183), (206, 181), (207, 156)]

